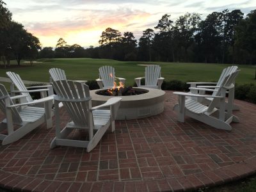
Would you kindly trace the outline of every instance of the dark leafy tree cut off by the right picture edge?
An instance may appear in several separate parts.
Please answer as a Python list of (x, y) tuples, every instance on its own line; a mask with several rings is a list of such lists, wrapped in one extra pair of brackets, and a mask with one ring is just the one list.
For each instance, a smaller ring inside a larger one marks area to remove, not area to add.
[(253, 63), (256, 54), (256, 10), (248, 13), (244, 20), (236, 27), (235, 45), (249, 54), (249, 63)]

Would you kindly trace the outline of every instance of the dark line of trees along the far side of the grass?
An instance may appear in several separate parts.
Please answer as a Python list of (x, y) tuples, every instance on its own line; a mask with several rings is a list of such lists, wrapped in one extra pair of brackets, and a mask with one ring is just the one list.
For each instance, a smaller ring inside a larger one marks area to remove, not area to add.
[(99, 46), (68, 45), (60, 38), (56, 47), (41, 48), (38, 38), (12, 20), (0, 0), (0, 56), (11, 59), (108, 58), (120, 61), (169, 61), (199, 63), (256, 63), (256, 10), (246, 17), (241, 10), (212, 12), (205, 19), (185, 13), (173, 21), (164, 14), (157, 26), (136, 40), (132, 32), (107, 28)]

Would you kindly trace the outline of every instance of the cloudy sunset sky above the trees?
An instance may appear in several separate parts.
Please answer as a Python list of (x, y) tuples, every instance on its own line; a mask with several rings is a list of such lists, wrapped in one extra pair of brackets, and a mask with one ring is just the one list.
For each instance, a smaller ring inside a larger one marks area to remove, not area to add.
[(55, 47), (59, 38), (68, 45), (99, 46), (106, 28), (132, 32), (138, 40), (154, 29), (164, 14), (175, 21), (185, 13), (240, 9), (244, 16), (256, 9), (256, 0), (3, 0), (12, 19), (38, 37), (42, 47)]

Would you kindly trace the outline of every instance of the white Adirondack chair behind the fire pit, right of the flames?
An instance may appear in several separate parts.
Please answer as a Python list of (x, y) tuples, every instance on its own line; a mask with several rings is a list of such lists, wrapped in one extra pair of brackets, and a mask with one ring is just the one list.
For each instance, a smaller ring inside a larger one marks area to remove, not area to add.
[[(143, 78), (145, 78), (145, 85), (141, 85), (141, 79)], [(158, 88), (161, 90), (164, 78), (161, 77), (161, 67), (159, 65), (148, 65), (145, 68), (145, 77), (137, 77), (134, 80), (138, 87)]]

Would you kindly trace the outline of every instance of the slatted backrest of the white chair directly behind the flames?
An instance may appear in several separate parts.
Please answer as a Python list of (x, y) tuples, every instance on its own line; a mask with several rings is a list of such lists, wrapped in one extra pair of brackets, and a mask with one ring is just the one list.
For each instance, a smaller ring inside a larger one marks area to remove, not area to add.
[(111, 66), (102, 66), (99, 68), (99, 76), (103, 81), (103, 86), (114, 86), (115, 68)]

